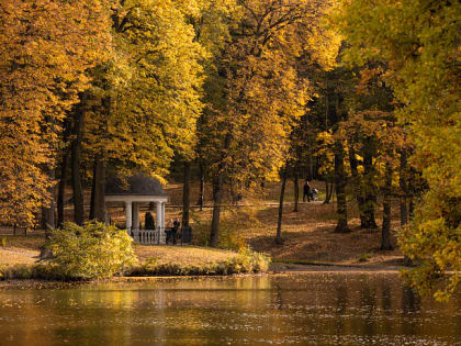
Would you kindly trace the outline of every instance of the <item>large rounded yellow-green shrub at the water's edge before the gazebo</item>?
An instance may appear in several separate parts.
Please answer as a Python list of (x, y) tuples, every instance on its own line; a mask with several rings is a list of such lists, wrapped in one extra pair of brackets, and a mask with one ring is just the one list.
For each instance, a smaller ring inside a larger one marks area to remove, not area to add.
[(122, 274), (136, 261), (133, 239), (115, 226), (89, 222), (83, 227), (65, 223), (54, 230), (46, 245), (53, 252), (49, 264), (65, 279), (103, 279)]

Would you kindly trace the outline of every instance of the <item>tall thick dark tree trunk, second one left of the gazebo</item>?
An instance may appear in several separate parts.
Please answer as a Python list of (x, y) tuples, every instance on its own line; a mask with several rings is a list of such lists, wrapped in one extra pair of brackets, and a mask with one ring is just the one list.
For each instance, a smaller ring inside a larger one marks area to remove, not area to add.
[[(83, 101), (81, 101), (83, 102)], [(74, 196), (74, 221), (83, 224), (83, 191), (81, 187), (81, 138), (83, 134), (85, 112), (81, 104), (77, 104), (74, 112), (74, 141), (71, 144), (71, 176)]]

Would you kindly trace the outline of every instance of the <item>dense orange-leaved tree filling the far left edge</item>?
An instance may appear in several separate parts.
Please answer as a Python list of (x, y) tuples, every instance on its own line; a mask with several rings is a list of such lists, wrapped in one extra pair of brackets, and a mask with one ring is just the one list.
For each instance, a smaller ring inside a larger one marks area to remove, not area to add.
[(105, 59), (108, 22), (103, 0), (0, 2), (2, 223), (30, 226), (53, 200), (63, 120)]

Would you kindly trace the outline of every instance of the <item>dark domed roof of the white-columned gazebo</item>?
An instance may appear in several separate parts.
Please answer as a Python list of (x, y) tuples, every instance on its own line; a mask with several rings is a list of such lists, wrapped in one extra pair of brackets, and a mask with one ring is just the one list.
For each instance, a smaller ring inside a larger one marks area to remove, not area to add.
[[(125, 182), (123, 181), (125, 180)], [(106, 196), (167, 196), (160, 181), (145, 174), (137, 174), (124, 179), (108, 178), (105, 182)]]

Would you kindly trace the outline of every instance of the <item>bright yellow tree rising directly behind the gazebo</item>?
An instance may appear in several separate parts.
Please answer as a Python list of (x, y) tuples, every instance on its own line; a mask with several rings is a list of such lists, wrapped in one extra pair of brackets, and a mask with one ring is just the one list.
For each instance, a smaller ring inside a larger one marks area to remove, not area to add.
[(114, 49), (90, 71), (91, 88), (75, 109), (85, 122), (86, 167), (93, 168), (90, 219), (104, 219), (106, 174), (142, 170), (164, 180), (175, 152), (193, 146), (202, 49), (183, 10), (173, 1), (111, 7)]

